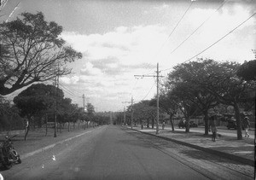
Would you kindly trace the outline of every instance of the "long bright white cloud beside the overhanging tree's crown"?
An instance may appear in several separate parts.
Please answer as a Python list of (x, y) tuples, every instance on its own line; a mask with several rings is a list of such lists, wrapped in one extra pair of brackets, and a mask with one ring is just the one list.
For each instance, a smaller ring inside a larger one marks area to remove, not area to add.
[(61, 38), (74, 49), (86, 53), (89, 61), (116, 57), (129, 64), (139, 61), (153, 61), (153, 53), (166, 39), (164, 26), (119, 26), (113, 32), (104, 34), (79, 34), (63, 32)]

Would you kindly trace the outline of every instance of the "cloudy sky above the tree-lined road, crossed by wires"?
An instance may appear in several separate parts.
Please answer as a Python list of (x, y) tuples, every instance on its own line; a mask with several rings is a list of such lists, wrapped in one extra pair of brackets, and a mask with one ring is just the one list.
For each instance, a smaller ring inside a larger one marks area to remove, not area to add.
[(60, 87), (80, 107), (84, 94), (96, 111), (153, 98), (157, 63), (162, 81), (179, 63), (243, 63), (256, 49), (256, 0), (9, 0), (0, 21), (25, 11), (63, 26), (61, 38), (83, 54), (68, 64), (73, 73), (60, 78)]

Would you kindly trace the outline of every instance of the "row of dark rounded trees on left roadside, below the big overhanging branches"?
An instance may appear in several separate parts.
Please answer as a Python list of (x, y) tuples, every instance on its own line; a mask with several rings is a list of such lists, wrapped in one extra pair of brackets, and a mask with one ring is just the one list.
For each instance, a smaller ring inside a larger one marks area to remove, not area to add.
[(73, 104), (72, 100), (65, 98), (63, 91), (54, 85), (32, 84), (26, 90), (20, 92), (18, 96), (15, 96), (14, 102), (15, 106), (20, 110), (20, 116), (28, 119), (25, 140), (30, 130), (31, 121), (35, 118), (38, 121), (44, 119), (43, 124), (45, 123), (47, 127), (48, 119), (53, 122), (56, 115), (60, 127), (61, 124), (67, 123), (68, 131), (71, 122), (73, 125), (77, 121), (107, 124), (101, 117), (95, 115), (93, 105), (88, 103), (86, 106), (87, 113), (84, 113), (84, 107), (78, 107), (77, 104)]

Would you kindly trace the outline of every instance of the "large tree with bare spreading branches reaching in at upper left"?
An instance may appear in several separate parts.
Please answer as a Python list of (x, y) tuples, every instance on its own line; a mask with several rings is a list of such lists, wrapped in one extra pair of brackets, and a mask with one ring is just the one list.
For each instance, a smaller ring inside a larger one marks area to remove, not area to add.
[(45, 21), (41, 12), (0, 24), (0, 95), (71, 73), (67, 62), (82, 54), (65, 45), (61, 32), (62, 26)]

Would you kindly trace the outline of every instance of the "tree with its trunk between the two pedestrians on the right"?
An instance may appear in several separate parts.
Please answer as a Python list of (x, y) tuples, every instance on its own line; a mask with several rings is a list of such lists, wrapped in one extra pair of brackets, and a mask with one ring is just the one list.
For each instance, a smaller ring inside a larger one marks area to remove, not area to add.
[(237, 76), (236, 72), (241, 67), (236, 62), (216, 62), (214, 71), (208, 74), (205, 79), (205, 88), (213, 96), (216, 96), (218, 102), (233, 106), (236, 114), (237, 139), (241, 140), (241, 112), (240, 106), (247, 102), (247, 92), (255, 90), (253, 82), (245, 81)]

